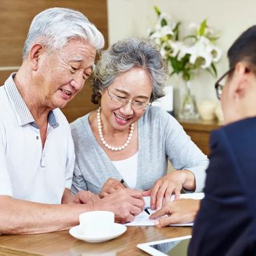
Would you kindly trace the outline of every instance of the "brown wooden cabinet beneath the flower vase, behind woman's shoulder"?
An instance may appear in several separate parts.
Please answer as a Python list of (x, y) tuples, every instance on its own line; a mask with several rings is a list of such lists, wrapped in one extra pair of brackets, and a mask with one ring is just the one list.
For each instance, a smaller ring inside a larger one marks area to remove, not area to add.
[(212, 130), (220, 128), (223, 124), (217, 120), (203, 121), (177, 119), (183, 126), (185, 132), (191, 137), (191, 140), (203, 151), (204, 154), (210, 154), (209, 139)]

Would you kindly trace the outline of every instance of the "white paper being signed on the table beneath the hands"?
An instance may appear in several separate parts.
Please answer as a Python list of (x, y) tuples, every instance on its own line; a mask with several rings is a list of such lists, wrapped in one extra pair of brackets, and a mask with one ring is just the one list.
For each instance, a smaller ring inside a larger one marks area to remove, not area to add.
[[(203, 193), (188, 193), (188, 194), (180, 194), (180, 198), (191, 198), (191, 199), (203, 199)], [(174, 195), (171, 196), (170, 201), (173, 201), (175, 198)], [(146, 208), (149, 210), (150, 215), (155, 213), (156, 210), (151, 210), (150, 208), (150, 196), (144, 196), (144, 201), (146, 203)], [(145, 213), (143, 210), (142, 213), (135, 217), (133, 222), (126, 223), (126, 226), (154, 226), (154, 222), (156, 220), (149, 220), (149, 215)], [(186, 224), (172, 224), (171, 226), (193, 226), (193, 222), (186, 223)]]

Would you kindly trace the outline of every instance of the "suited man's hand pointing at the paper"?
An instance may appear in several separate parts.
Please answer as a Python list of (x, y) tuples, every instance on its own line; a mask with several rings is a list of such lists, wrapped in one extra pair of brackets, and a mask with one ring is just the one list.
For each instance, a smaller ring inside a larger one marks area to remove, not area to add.
[(157, 227), (165, 227), (170, 224), (194, 222), (196, 214), (200, 208), (200, 203), (201, 200), (177, 199), (175, 201), (169, 202), (156, 213), (150, 215), (149, 219), (154, 220), (158, 217), (161, 217), (155, 222), (155, 226)]

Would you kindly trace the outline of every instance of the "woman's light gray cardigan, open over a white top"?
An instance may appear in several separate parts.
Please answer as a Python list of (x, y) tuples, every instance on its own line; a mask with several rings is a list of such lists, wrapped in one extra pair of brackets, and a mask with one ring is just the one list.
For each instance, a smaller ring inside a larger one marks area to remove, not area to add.
[[(95, 140), (88, 116), (71, 123), (76, 152), (72, 191), (98, 194), (109, 177), (122, 177)], [(191, 170), (196, 177), (196, 192), (202, 191), (208, 159), (173, 116), (159, 107), (149, 107), (138, 120), (138, 140), (136, 189), (150, 189), (166, 174), (169, 159), (175, 169)]]

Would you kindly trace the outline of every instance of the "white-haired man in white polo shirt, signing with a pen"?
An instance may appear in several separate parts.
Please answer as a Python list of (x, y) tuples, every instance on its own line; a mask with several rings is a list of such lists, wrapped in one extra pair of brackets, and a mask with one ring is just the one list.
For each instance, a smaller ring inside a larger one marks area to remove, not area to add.
[(78, 11), (50, 8), (32, 21), (22, 65), (0, 88), (0, 233), (68, 229), (89, 210), (112, 210), (121, 222), (142, 211), (139, 191), (103, 199), (70, 191), (74, 145), (59, 108), (83, 88), (103, 46)]

